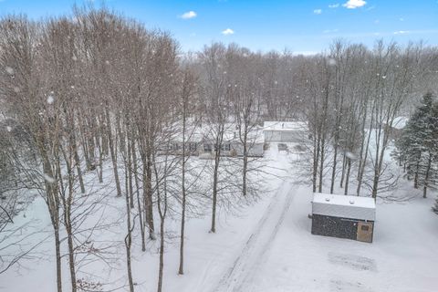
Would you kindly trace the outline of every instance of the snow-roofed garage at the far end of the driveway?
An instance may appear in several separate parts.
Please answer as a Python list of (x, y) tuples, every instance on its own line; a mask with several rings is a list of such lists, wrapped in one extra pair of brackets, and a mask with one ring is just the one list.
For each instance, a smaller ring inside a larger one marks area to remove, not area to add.
[(266, 142), (304, 142), (308, 140), (308, 123), (305, 121), (265, 121), (263, 131)]

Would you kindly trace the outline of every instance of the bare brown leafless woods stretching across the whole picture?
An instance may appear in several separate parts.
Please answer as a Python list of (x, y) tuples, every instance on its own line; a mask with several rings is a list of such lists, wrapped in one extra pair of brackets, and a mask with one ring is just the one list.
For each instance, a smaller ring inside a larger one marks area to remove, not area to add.
[[(308, 181), (315, 192), (333, 193), (339, 183), (346, 194), (376, 197), (393, 182), (384, 155), (394, 119), (409, 114), (416, 97), (436, 89), (437, 81), (438, 51), (422, 44), (380, 41), (369, 49), (337, 41), (328, 53), (312, 57), (212, 44), (182, 54), (168, 33), (106, 10), (75, 9), (74, 17), (37, 22), (7, 16), (0, 22), (0, 175), (8, 182), (1, 185), (0, 232), (16, 213), (9, 194), (36, 190), (53, 226), (57, 291), (66, 287), (63, 245), (72, 291), (89, 289), (92, 283), (78, 278), (78, 258), (91, 248), (83, 224), (99, 202), (86, 199), (95, 192), (86, 177), (96, 173), (99, 183), (109, 183), (103, 175), (108, 162), (111, 191), (126, 203), (128, 287), (135, 288), (132, 233), (140, 233), (143, 251), (158, 234), (162, 291), (168, 212), (181, 215), (183, 274), (190, 200), (211, 203), (216, 232), (218, 203), (257, 194), (249, 133), (263, 120), (308, 121)], [(244, 145), (234, 164), (221, 155), (230, 122)], [(203, 169), (211, 185), (190, 196), (201, 174), (193, 173), (185, 142), (199, 125), (211, 128), (217, 149)], [(159, 155), (175, 136), (183, 139), (182, 155)]]

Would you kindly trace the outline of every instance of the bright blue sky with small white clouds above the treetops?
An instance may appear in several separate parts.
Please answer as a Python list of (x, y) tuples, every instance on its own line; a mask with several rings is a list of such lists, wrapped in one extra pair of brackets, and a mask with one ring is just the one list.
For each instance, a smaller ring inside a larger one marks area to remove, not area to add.
[[(65, 15), (84, 2), (0, 0), (0, 15)], [(368, 46), (378, 38), (438, 45), (438, 0), (108, 0), (106, 5), (147, 27), (170, 31), (183, 50), (222, 41), (313, 53), (340, 37)]]

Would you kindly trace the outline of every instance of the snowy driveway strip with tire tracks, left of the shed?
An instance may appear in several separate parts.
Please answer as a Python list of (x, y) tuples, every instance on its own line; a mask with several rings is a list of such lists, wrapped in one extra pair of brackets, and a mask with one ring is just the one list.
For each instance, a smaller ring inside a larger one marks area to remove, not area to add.
[(290, 193), (290, 183), (284, 181), (258, 222), (258, 228), (249, 236), (241, 254), (220, 279), (214, 292), (245, 291), (246, 283), (253, 278), (256, 266), (260, 264), (283, 223), (294, 195)]

